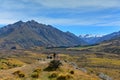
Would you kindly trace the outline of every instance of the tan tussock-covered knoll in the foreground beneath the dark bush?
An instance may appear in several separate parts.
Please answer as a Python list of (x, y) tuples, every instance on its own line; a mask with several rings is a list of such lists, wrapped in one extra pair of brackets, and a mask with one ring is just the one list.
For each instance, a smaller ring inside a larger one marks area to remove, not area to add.
[[(22, 67), (0, 71), (2, 80), (99, 80), (95, 75), (89, 75), (72, 66), (63, 63), (59, 70), (47, 71), (47, 62), (36, 62)], [(29, 73), (28, 73), (29, 72)]]

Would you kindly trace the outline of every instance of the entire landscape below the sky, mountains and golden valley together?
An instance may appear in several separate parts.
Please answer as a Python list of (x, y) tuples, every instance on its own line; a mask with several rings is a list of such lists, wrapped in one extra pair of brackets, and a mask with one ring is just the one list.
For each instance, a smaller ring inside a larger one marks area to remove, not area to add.
[(0, 80), (120, 80), (120, 31), (76, 36), (34, 20), (1, 27)]

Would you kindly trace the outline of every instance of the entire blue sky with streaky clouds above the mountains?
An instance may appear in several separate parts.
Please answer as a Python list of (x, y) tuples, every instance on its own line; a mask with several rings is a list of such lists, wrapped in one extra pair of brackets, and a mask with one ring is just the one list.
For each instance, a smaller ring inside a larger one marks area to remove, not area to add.
[(0, 3), (0, 26), (36, 20), (76, 35), (104, 35), (120, 30), (120, 0), (0, 0)]

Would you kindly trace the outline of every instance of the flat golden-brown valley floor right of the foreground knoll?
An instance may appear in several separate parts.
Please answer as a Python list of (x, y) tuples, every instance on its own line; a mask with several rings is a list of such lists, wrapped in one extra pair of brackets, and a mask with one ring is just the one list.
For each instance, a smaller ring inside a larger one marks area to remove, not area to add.
[(89, 74), (100, 76), (101, 73), (104, 73), (113, 80), (120, 78), (120, 55), (91, 53), (72, 55), (72, 57), (74, 57), (72, 60), (80, 68), (85, 68)]

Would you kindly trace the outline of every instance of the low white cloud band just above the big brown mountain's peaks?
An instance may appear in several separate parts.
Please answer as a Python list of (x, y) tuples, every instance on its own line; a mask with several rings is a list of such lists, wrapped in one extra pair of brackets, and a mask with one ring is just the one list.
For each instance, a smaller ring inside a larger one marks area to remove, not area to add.
[[(20, 17), (20, 16), (19, 16)], [(21, 16), (22, 17), (22, 16)], [(79, 25), (79, 26), (87, 26), (87, 25), (95, 25), (98, 24), (100, 21), (98, 20), (82, 20), (82, 19), (69, 19), (69, 18), (49, 18), (49, 17), (26, 17), (24, 19), (20, 18), (4, 18), (0, 19), (0, 24), (12, 24), (18, 20), (36, 20), (39, 23), (43, 24), (50, 24), (50, 25), (66, 25), (66, 26), (71, 26), (71, 25)]]

